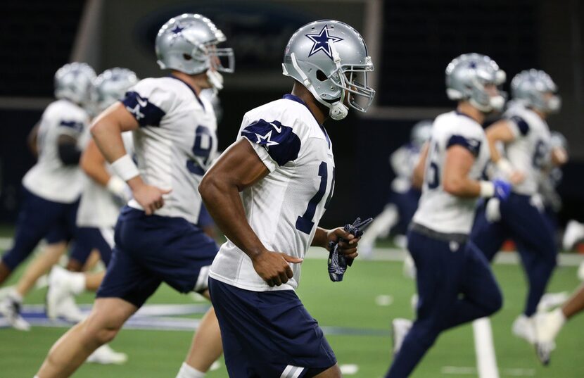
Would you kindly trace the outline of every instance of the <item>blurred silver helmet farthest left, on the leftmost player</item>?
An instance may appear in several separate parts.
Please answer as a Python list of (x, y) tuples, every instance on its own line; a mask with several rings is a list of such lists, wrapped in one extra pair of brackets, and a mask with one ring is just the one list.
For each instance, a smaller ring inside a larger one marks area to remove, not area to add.
[(86, 106), (91, 101), (95, 71), (87, 63), (68, 63), (55, 73), (55, 97)]

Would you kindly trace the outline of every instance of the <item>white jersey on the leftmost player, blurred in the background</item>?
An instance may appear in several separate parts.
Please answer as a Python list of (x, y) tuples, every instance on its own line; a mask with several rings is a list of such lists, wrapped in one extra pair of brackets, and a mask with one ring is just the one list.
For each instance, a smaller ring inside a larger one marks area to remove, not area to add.
[(83, 148), (89, 115), (68, 100), (58, 100), (45, 109), (37, 134), (39, 160), (23, 178), (24, 187), (48, 201), (73, 203), (83, 189), (85, 177), (79, 165), (65, 165), (58, 152), (58, 139), (68, 135)]

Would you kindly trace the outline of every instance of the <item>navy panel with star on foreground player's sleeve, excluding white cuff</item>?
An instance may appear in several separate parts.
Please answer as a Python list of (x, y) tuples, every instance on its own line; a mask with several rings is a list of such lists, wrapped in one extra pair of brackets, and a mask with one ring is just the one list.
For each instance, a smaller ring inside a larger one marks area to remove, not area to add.
[(300, 138), (294, 134), (292, 127), (284, 126), (279, 121), (267, 122), (257, 120), (241, 130), (241, 136), (250, 142), (262, 146), (278, 165), (284, 165), (298, 158)]

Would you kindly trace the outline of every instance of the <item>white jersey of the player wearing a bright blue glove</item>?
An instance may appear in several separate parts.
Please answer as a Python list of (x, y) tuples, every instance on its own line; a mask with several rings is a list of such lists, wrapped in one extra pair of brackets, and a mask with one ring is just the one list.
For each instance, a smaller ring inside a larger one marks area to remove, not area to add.
[(481, 125), (456, 111), (439, 115), (432, 127), (424, 186), (413, 222), (442, 234), (468, 235), (476, 199), (453, 196), (442, 186), (446, 151), (450, 146), (463, 146), (474, 155), (469, 178), (480, 179), (483, 174), (490, 153)]

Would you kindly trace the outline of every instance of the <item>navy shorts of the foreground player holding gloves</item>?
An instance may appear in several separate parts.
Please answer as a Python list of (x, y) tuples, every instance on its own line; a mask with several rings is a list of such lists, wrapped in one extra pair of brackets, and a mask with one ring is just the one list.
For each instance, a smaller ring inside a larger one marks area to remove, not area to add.
[(248, 291), (209, 278), (230, 378), (313, 377), (336, 364), (292, 290)]

